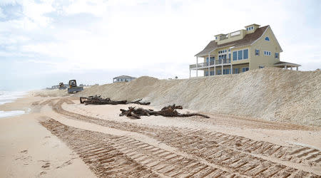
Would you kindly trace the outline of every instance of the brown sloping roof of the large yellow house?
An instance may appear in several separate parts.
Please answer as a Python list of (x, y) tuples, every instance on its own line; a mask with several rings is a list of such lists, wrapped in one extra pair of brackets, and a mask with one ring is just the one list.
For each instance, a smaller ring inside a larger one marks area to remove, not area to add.
[(244, 36), (244, 38), (242, 38), (238, 41), (231, 41), (231, 42), (223, 43), (220, 45), (218, 45), (218, 42), (215, 42), (215, 40), (210, 41), (210, 43), (208, 43), (208, 46), (206, 46), (203, 49), (203, 51), (200, 51), (200, 53), (197, 53), (195, 56), (203, 56), (203, 55), (205, 56), (208, 53), (210, 53), (210, 51), (214, 51), (216, 48), (223, 48), (223, 47), (227, 47), (227, 46), (239, 47), (239, 46), (250, 45), (263, 35), (263, 33), (265, 32), (267, 27), (268, 26), (263, 26), (263, 27), (257, 28), (255, 32), (246, 34)]

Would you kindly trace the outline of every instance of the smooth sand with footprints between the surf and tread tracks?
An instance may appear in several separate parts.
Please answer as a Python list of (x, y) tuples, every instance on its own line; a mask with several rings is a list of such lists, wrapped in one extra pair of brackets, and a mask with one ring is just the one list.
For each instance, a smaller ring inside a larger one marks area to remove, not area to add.
[(24, 110), (0, 119), (0, 177), (95, 177), (61, 140), (39, 124), (44, 117), (32, 106), (41, 100), (31, 93), (0, 110)]

